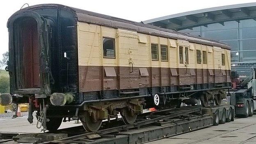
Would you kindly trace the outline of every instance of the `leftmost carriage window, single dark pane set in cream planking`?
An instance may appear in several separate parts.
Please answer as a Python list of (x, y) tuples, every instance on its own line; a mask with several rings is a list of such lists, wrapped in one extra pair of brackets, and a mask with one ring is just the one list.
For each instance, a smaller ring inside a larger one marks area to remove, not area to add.
[(103, 54), (105, 58), (115, 58), (115, 39), (103, 37)]

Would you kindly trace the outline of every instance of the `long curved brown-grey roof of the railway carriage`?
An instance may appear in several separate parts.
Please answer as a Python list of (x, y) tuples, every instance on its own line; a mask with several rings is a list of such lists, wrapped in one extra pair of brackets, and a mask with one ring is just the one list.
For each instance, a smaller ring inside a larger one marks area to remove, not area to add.
[(217, 40), (197, 37), (197, 36), (186, 34), (183, 32), (177, 32), (174, 30), (169, 30), (169, 29), (165, 29), (165, 28), (161, 28), (153, 25), (137, 23), (134, 21), (128, 21), (121, 18), (107, 16), (104, 14), (98, 14), (95, 12), (86, 11), (86, 10), (77, 9), (77, 8), (68, 7), (68, 6), (59, 5), (59, 4), (34, 5), (31, 7), (26, 7), (21, 10), (33, 10), (33, 9), (43, 9), (43, 8), (52, 8), (52, 7), (69, 10), (71, 13), (73, 13), (74, 18), (76, 18), (77, 21), (81, 21), (81, 22), (103, 25), (107, 27), (114, 27), (119, 29), (126, 29), (126, 30), (143, 33), (143, 34), (150, 34), (153, 36), (166, 37), (170, 39), (180, 39), (180, 40), (189, 41), (191, 43), (199, 43), (199, 44), (208, 45), (208, 46), (216, 46), (216, 47), (225, 48), (228, 50), (231, 49), (231, 47), (226, 43), (221, 43)]

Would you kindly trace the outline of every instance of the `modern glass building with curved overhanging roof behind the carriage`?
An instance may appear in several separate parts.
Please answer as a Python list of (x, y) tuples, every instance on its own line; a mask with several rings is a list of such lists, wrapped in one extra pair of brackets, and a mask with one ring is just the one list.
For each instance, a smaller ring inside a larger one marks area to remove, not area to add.
[(231, 64), (256, 65), (256, 3), (188, 11), (144, 23), (229, 44)]

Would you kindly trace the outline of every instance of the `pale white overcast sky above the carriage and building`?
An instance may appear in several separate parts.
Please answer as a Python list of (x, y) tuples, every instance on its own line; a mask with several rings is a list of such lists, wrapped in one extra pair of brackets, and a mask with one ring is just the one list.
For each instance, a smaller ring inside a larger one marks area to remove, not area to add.
[[(2, 0), (0, 5), (0, 59), (8, 51), (8, 18), (22, 5), (55, 3), (85, 9), (131, 21), (145, 21), (152, 18), (181, 12), (256, 2), (256, 0)], [(25, 6), (27, 7), (27, 6)]]

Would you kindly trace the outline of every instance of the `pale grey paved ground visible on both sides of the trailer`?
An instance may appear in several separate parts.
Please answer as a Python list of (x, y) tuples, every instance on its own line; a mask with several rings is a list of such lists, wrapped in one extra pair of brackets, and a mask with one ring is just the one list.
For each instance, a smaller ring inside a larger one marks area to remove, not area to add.
[[(34, 123), (27, 122), (27, 115), (11, 119), (0, 118), (0, 132), (40, 133)], [(62, 123), (60, 128), (80, 126), (74, 121)], [(248, 118), (238, 118), (235, 121), (210, 126), (201, 130), (156, 140), (146, 144), (256, 144), (256, 115)]]

